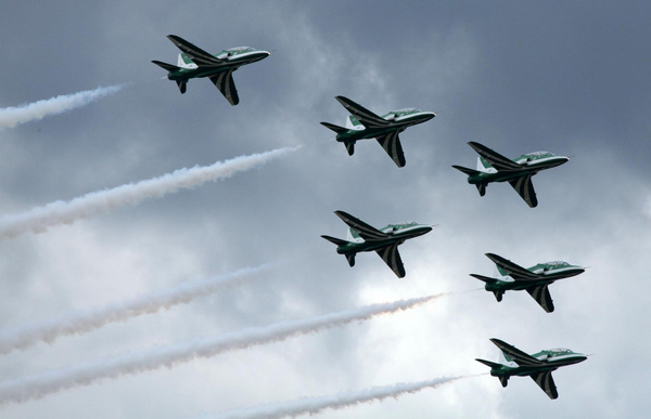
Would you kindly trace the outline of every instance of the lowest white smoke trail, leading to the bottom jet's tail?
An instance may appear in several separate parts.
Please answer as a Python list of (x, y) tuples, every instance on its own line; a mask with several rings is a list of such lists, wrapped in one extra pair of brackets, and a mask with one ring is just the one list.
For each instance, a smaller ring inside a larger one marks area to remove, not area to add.
[(221, 414), (206, 415), (202, 418), (214, 419), (277, 419), (285, 416), (314, 415), (324, 409), (342, 409), (361, 403), (382, 401), (387, 397), (398, 397), (406, 393), (416, 393), (424, 389), (436, 389), (439, 385), (457, 381), (461, 377), (437, 378), (435, 380), (398, 383), (387, 387), (374, 387), (356, 392), (340, 393), (330, 396), (299, 398), (293, 402), (275, 403), (266, 406), (251, 407)]

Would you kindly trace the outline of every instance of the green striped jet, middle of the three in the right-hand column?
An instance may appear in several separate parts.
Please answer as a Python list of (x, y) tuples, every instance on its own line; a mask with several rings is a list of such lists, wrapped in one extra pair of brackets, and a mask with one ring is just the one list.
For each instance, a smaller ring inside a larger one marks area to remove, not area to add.
[(547, 288), (559, 279), (569, 278), (585, 272), (585, 267), (571, 265), (567, 262), (554, 261), (538, 263), (524, 269), (500, 256), (486, 253), (496, 265), (499, 278), (470, 274), (486, 283), (486, 291), (493, 291), (497, 301), (501, 301), (505, 291), (526, 290), (538, 304), (547, 312), (553, 312), (553, 301)]

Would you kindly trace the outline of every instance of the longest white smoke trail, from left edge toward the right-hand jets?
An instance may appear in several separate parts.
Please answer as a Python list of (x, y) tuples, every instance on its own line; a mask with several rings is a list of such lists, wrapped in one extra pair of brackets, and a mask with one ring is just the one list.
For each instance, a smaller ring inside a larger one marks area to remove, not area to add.
[(165, 348), (154, 348), (122, 357), (87, 363), (55, 371), (28, 376), (0, 382), (0, 405), (40, 398), (64, 389), (88, 385), (106, 378), (118, 378), (154, 370), (171, 368), (196, 358), (206, 358), (221, 352), (245, 349), (269, 342), (279, 342), (292, 336), (310, 333), (352, 322), (367, 320), (381, 314), (394, 313), (424, 304), (438, 296), (400, 300), (383, 304), (307, 317), (298, 320), (276, 323), (267, 327), (255, 327), (219, 335), (214, 338), (195, 339)]

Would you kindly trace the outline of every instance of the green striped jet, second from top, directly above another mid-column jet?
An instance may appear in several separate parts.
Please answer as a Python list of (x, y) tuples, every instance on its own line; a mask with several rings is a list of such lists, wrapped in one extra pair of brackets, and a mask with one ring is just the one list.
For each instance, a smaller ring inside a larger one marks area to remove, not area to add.
[(399, 168), (405, 166), (406, 161), (398, 134), (408, 127), (427, 121), (436, 116), (433, 112), (423, 112), (412, 107), (379, 116), (348, 97), (335, 96), (335, 99), (352, 114), (346, 119), (346, 127), (329, 122), (321, 122), (321, 125), (336, 132), (335, 140), (344, 143), (348, 155), (353, 156), (355, 153), (355, 143), (358, 140), (375, 139)]

